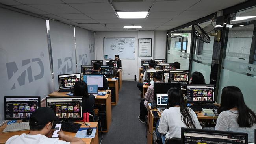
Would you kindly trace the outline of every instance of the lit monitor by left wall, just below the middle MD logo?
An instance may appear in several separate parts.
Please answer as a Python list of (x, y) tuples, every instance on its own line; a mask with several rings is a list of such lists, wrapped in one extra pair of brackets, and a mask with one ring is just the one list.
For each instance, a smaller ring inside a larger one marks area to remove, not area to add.
[(74, 87), (76, 81), (80, 81), (80, 73), (77, 74), (61, 74), (58, 75), (59, 89), (66, 87)]

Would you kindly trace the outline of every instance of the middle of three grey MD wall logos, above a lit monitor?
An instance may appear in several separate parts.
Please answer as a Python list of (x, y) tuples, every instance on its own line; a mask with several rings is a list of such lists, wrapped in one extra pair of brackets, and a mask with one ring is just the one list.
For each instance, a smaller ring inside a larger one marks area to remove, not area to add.
[(66, 74), (67, 72), (71, 72), (73, 70), (72, 57), (65, 57), (63, 63), (62, 63), (62, 59), (58, 59), (58, 70), (60, 69), (61, 69), (61, 72), (59, 74)]

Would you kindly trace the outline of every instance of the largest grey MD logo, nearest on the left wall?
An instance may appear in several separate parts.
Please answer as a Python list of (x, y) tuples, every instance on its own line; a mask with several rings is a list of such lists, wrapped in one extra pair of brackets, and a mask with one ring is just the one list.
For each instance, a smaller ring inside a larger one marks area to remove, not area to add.
[[(37, 75), (32, 73), (32, 66), (34, 67), (34, 63), (37, 63), (40, 67), (40, 73)], [(15, 61), (6, 63), (6, 68), (9, 81), (14, 83), (11, 87), (11, 90), (16, 88), (17, 82), (19, 83), (19, 86), (25, 85), (26, 73), (28, 74), (29, 83), (43, 78), (45, 73), (44, 65), (40, 58), (22, 60), (21, 67), (19, 66), (19, 68)]]

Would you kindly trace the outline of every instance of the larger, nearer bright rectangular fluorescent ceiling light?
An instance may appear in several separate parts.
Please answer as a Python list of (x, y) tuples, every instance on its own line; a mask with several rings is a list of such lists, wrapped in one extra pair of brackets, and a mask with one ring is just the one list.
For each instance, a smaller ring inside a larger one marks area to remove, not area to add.
[(124, 19), (137, 19), (137, 18), (146, 18), (148, 11), (137, 11), (137, 12), (117, 12), (119, 18)]

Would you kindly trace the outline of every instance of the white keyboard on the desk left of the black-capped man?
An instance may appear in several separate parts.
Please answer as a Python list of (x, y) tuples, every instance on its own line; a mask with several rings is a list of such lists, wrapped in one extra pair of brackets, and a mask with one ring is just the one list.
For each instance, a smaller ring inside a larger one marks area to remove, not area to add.
[(8, 124), (3, 130), (3, 133), (9, 133), (13, 131), (26, 131), (29, 130), (29, 122), (19, 122)]

